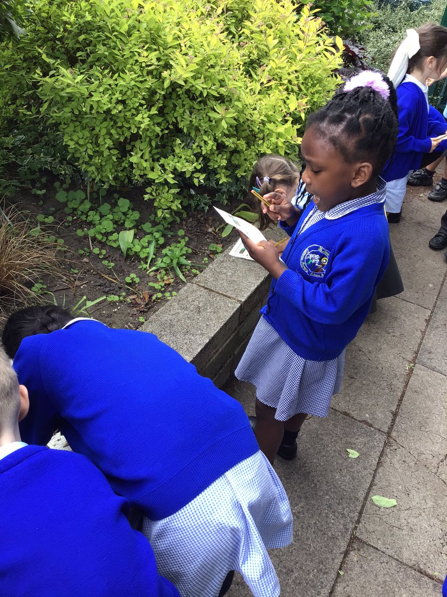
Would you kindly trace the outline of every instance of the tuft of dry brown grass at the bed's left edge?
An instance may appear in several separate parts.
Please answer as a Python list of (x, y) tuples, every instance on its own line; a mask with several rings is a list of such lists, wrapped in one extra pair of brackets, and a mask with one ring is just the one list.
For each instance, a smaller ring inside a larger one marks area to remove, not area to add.
[(16, 209), (0, 205), (0, 298), (26, 303), (35, 298), (31, 287), (42, 275), (64, 278), (60, 245), (33, 236), (33, 228)]

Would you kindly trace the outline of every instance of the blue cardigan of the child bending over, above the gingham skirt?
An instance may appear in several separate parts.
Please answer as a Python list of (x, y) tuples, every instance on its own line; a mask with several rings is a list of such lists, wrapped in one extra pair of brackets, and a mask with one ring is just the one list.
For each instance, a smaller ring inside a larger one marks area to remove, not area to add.
[(241, 405), (153, 334), (78, 321), (24, 338), (14, 368), (30, 394), (23, 441), (59, 427), (151, 519), (259, 450)]

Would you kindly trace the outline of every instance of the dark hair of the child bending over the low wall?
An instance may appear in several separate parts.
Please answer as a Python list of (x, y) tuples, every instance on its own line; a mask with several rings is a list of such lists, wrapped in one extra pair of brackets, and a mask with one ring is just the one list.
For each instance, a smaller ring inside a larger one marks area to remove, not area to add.
[(72, 313), (54, 304), (20, 309), (6, 322), (2, 344), (13, 359), (23, 338), (60, 330), (70, 319), (73, 319)]

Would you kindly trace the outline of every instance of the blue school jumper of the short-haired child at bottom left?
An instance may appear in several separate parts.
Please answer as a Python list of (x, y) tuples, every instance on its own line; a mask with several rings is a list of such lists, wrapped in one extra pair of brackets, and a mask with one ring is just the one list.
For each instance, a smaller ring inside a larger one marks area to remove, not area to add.
[(179, 597), (86, 458), (28, 445), (0, 460), (2, 597)]

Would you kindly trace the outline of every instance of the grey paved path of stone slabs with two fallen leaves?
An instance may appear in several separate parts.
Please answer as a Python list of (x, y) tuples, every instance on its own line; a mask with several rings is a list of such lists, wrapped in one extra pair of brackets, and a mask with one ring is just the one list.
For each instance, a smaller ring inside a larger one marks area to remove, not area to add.
[[(447, 573), (447, 262), (427, 243), (446, 202), (409, 188), (391, 226), (405, 291), (378, 302), (347, 350), (327, 419), (275, 468), (294, 543), (274, 550), (281, 597), (439, 597)], [(421, 196), (422, 195), (422, 196)], [(254, 411), (249, 384), (229, 392)], [(349, 458), (346, 448), (360, 453)], [(395, 498), (380, 509), (371, 496)], [(339, 571), (341, 571), (340, 574)], [(249, 597), (238, 577), (228, 597)]]

